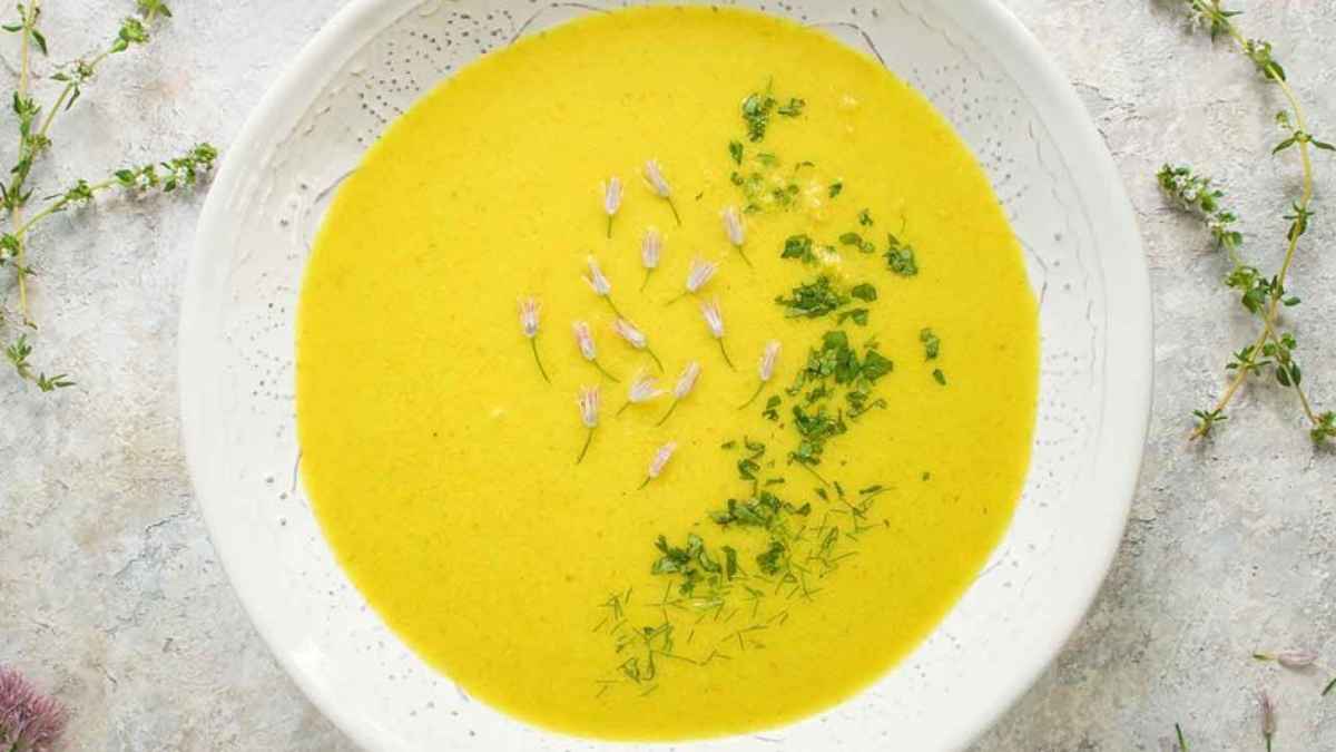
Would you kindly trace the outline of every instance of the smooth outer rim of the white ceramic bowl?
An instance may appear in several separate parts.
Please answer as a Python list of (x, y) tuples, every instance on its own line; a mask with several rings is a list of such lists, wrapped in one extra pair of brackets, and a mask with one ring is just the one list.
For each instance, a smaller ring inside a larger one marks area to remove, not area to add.
[[(1120, 294), (1117, 316), (1106, 316), (1105, 321), (1106, 352), (1120, 356), (1120, 379), (1105, 380), (1104, 405), (1126, 405), (1126, 408), (1120, 407), (1117, 411), (1105, 409), (1102, 412), (1094, 454), (1098, 462), (1092, 470), (1090, 483), (1082, 488), (1086, 503), (1108, 507), (1110, 515), (1117, 512), (1110, 516), (1110, 522), (1116, 519), (1116, 523), (1105, 525), (1088, 538), (1086, 550), (1097, 562), (1093, 571), (1097, 571), (1098, 575), (1090, 577), (1078, 589), (1078, 597), (1050, 607), (1049, 628), (1045, 632), (1043, 644), (1031, 645), (1026, 650), (1019, 669), (1015, 670), (1003, 692), (997, 693), (991, 702), (963, 712), (961, 723), (949, 732), (953, 748), (965, 748), (1001, 720), (1002, 715), (1034, 685), (1039, 674), (1053, 662), (1081, 625), (1108, 577), (1120, 549), (1140, 480), (1150, 424), (1154, 326), (1150, 276), (1136, 213), (1124, 189), (1113, 155), (1086, 112), (1075, 88), (1038, 39), (1011, 11), (1002, 5), (1002, 0), (927, 1), (938, 5), (962, 28), (991, 29), (990, 52), (1003, 63), (1007, 72), (1018, 83), (1027, 79), (1033, 88), (1050, 95), (1031, 99), (1031, 106), (1043, 115), (1042, 120), (1061, 122), (1070, 128), (1058, 143), (1059, 147), (1077, 150), (1082, 157), (1081, 170), (1071, 171), (1071, 178), (1079, 189), (1077, 193), (1083, 198), (1101, 202), (1101, 211), (1092, 222), (1109, 246), (1124, 249), (1117, 264), (1110, 264), (1113, 256), (1110, 253), (1101, 253), (1100, 260), (1105, 274), (1105, 288), (1117, 289)], [(232, 209), (227, 197), (246, 187), (248, 183), (247, 165), (263, 155), (265, 145), (270, 134), (275, 132), (275, 127), (294, 123), (295, 116), (287, 111), (286, 103), (301, 99), (303, 92), (322, 83), (326, 68), (321, 63), (343, 50), (347, 40), (357, 36), (359, 28), (378, 28), (374, 21), (391, 5), (395, 5), (394, 0), (350, 0), (339, 8), (269, 87), (246, 118), (232, 143), (224, 150), (220, 167), (200, 213), (182, 285), (176, 363), (180, 432), (186, 466), (210, 542), (227, 574), (228, 583), (251, 625), (285, 673), (293, 678), (326, 719), (355, 744), (367, 749), (377, 748), (375, 725), (361, 715), (347, 712), (346, 702), (338, 698), (334, 688), (318, 681), (291, 652), (279, 649), (281, 641), (274, 633), (273, 622), (258, 610), (255, 599), (239, 585), (242, 578), (238, 575), (238, 567), (243, 551), (223, 545), (220, 539), (222, 519), (218, 510), (222, 504), (208, 503), (211, 494), (203, 482), (207, 476), (204, 468), (208, 458), (195, 444), (190, 430), (191, 426), (199, 424), (199, 413), (208, 401), (207, 395), (192, 392), (188, 387), (196, 383), (194, 377), (199, 368), (196, 343), (206, 335), (199, 310), (210, 281), (204, 264), (206, 254), (212, 250), (211, 244), (215, 237), (215, 233), (210, 230), (227, 225)], [(1063, 157), (1067, 155), (1063, 154)], [(1105, 221), (1101, 222), (1100, 218)], [(509, 716), (505, 717), (509, 719)], [(604, 744), (624, 747), (619, 743)], [(700, 743), (680, 741), (675, 743), (673, 747), (692, 747), (695, 744)]]

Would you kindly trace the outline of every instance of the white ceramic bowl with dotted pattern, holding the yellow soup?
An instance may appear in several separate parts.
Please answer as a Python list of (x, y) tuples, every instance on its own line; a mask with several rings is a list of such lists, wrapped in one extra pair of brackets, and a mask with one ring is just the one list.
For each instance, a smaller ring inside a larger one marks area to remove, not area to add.
[[(477, 55), (623, 4), (353, 0), (251, 115), (204, 207), (180, 325), (190, 471), (259, 633), (366, 748), (617, 747), (534, 729), (470, 701), (367, 607), (335, 565), (298, 479), (293, 361), (310, 238), (333, 189), (385, 124)], [(691, 747), (961, 748), (1061, 649), (1122, 534), (1150, 405), (1149, 285), (1133, 214), (1075, 94), (995, 0), (736, 4), (878, 55), (970, 145), (1041, 300), (1041, 404), (1015, 519), (927, 641), (826, 713)]]

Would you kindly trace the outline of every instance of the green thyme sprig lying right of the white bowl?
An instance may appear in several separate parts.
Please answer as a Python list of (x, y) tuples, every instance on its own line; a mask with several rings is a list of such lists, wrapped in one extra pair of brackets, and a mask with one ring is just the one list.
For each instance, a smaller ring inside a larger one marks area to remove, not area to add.
[(1263, 274), (1256, 266), (1244, 262), (1240, 254), (1242, 234), (1234, 229), (1238, 217), (1222, 206), (1225, 194), (1214, 187), (1210, 178), (1196, 173), (1188, 166), (1165, 165), (1157, 174), (1160, 187), (1178, 206), (1189, 210), (1206, 223), (1216, 245), (1229, 256), (1232, 269), (1225, 277), (1225, 285), (1240, 293), (1240, 304), (1250, 316), (1259, 320), (1260, 332), (1252, 344), (1236, 352), (1226, 365), (1233, 372), (1224, 393), (1209, 407), (1193, 411), (1196, 426), (1192, 438), (1206, 436), (1225, 420), (1225, 409), (1249, 375), (1269, 372), (1276, 381), (1293, 389), (1309, 423), (1309, 435), (1315, 443), (1336, 438), (1336, 413), (1319, 412), (1303, 385), (1303, 369), (1295, 356), (1299, 340), (1292, 331), (1280, 322), (1281, 306), (1293, 308), (1301, 301), (1287, 289), (1289, 272), (1299, 250), (1299, 241), (1308, 233), (1313, 218), (1313, 153), (1315, 150), (1336, 151), (1331, 143), (1313, 136), (1308, 127), (1304, 107), (1289, 84), (1284, 67), (1276, 60), (1269, 41), (1248, 39), (1238, 29), (1234, 17), (1240, 11), (1222, 7), (1222, 0), (1184, 0), (1190, 17), (1210, 32), (1212, 40), (1225, 37), (1248, 60), (1259, 75), (1275, 84), (1285, 100), (1285, 110), (1276, 114), (1276, 123), (1285, 136), (1272, 149), (1272, 154), (1293, 150), (1303, 170), (1300, 195), (1292, 201), (1291, 211), (1285, 214), (1289, 227), (1285, 231), (1285, 256), (1280, 269), (1273, 274)]

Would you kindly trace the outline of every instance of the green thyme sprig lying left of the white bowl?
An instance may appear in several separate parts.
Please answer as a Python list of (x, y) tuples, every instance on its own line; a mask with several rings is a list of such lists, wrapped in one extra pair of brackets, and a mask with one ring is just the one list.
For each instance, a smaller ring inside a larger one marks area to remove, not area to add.
[[(37, 329), (29, 305), (29, 278), (35, 274), (28, 261), (32, 230), (61, 211), (92, 203), (103, 191), (120, 189), (132, 193), (150, 190), (171, 193), (178, 187), (194, 186), (212, 169), (218, 150), (200, 143), (175, 159), (126, 167), (102, 181), (90, 182), (80, 178), (64, 193), (48, 197), (36, 213), (24, 218), (33, 195), (33, 189), (29, 186), (32, 169), (39, 158), (52, 150), (51, 128), (56, 115), (73, 107), (108, 58), (120, 55), (131, 47), (147, 44), (151, 39), (150, 29), (158, 21), (171, 17), (171, 9), (163, 0), (138, 0), (135, 15), (122, 20), (116, 35), (104, 48), (60, 67), (51, 76), (63, 86), (49, 106), (39, 104), (32, 95), (35, 54), (40, 52), (43, 56), (48, 54), (47, 37), (39, 25), (41, 0), (19, 3), (15, 9), (17, 20), (0, 25), (4, 31), (19, 35), (17, 82), (11, 96), (19, 143), (8, 178), (0, 181), (0, 209), (8, 225), (0, 231), (0, 269), (8, 269), (13, 274), (17, 312), (12, 318), (27, 331), (20, 332), (17, 339), (5, 347), (5, 357), (21, 380), (32, 383), (41, 392), (55, 392), (75, 383), (67, 375), (47, 376), (31, 361), (33, 345), (29, 333)], [(4, 298), (0, 298), (0, 325), (9, 320), (5, 317), (4, 302)]]

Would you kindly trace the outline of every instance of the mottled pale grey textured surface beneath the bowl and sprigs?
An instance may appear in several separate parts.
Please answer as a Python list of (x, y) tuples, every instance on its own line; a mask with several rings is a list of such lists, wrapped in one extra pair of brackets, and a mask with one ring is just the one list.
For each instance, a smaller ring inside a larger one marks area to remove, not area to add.
[[(57, 123), (63, 149), (37, 185), (195, 139), (226, 146), (341, 4), (178, 3), (152, 47), (110, 64)], [(1336, 455), (1312, 450), (1297, 405), (1269, 387), (1246, 389), (1213, 443), (1185, 442), (1184, 416), (1216, 393), (1225, 353), (1252, 329), (1218, 285), (1222, 261), (1150, 181), (1164, 159), (1208, 167), (1236, 197), (1248, 253), (1273, 268), (1297, 187), (1293, 162), (1264, 150), (1276, 139), (1277, 94), (1224, 47), (1186, 36), (1168, 0), (1006, 4), (1075, 82), (1136, 205), (1156, 290), (1157, 388), (1141, 486), (1100, 599), (975, 749), (1158, 751), (1174, 721), (1194, 749), (1261, 749), (1261, 688), (1280, 705), (1277, 749), (1336, 748), (1336, 697), (1319, 698), (1325, 672), (1248, 660), (1303, 645), (1336, 669)], [(1336, 5), (1238, 4), (1249, 31), (1276, 43), (1313, 130), (1336, 135), (1325, 51)], [(63, 60), (106, 39), (130, 0), (48, 5)], [(13, 39), (0, 44), (12, 66)], [(0, 147), (7, 161), (11, 151)], [(1292, 285), (1305, 298), (1305, 379), (1325, 404), (1336, 403), (1329, 175), (1336, 162), (1320, 158), (1319, 219)], [(75, 709), (69, 749), (351, 749), (253, 632), (191, 498), (175, 328), (198, 207), (192, 197), (111, 199), (35, 240), (39, 364), (80, 385), (37, 399), (0, 375), (0, 662)]]

